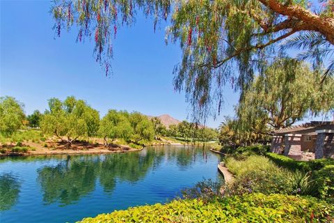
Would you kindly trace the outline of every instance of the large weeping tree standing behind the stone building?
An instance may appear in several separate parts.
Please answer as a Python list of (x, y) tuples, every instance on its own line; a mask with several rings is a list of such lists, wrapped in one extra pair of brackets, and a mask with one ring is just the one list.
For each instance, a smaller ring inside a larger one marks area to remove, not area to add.
[(277, 59), (244, 94), (237, 109), (240, 128), (251, 131), (256, 122), (286, 128), (305, 116), (334, 109), (334, 79), (324, 84), (319, 72), (295, 59)]

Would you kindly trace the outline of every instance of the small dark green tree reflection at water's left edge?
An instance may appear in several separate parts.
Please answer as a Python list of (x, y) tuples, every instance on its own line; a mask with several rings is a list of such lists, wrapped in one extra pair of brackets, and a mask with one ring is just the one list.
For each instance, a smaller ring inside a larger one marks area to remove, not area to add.
[(17, 203), (21, 183), (12, 174), (0, 175), (0, 210), (9, 210)]

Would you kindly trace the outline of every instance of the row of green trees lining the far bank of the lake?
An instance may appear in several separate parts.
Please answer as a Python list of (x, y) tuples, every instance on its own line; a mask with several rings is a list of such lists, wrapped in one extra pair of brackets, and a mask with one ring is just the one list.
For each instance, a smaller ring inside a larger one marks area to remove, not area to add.
[(15, 98), (0, 99), (0, 132), (13, 134), (24, 123), (31, 128), (41, 128), (45, 134), (54, 135), (67, 144), (88, 137), (102, 137), (104, 144), (110, 146), (116, 139), (138, 144), (140, 141), (152, 141), (162, 136), (183, 137), (184, 139), (216, 139), (217, 132), (211, 128), (198, 128), (197, 125), (183, 121), (171, 125), (169, 129), (159, 118), (148, 118), (139, 112), (109, 110), (100, 119), (100, 114), (84, 100), (73, 96), (61, 101), (49, 99), (49, 108), (40, 113), (38, 110), (29, 116), (24, 114), (24, 105)]

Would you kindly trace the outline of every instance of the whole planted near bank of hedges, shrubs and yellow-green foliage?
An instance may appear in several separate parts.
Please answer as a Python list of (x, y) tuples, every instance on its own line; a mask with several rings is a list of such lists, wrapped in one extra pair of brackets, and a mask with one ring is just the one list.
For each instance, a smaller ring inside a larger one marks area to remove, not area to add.
[[(231, 183), (205, 180), (185, 200), (140, 206), (81, 222), (332, 222), (334, 160), (296, 161), (246, 146), (228, 154)], [(196, 198), (196, 199), (194, 199)]]

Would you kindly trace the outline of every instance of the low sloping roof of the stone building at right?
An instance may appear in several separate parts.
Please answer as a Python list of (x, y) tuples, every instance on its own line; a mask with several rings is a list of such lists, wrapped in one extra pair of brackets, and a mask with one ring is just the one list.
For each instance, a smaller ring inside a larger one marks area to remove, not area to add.
[(311, 121), (310, 123), (303, 123), (301, 125), (294, 125), (287, 128), (282, 128), (280, 130), (274, 130), (272, 133), (288, 133), (288, 132), (298, 132), (303, 130), (312, 130), (316, 128), (324, 127), (324, 129), (334, 130), (334, 121)]

